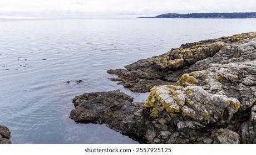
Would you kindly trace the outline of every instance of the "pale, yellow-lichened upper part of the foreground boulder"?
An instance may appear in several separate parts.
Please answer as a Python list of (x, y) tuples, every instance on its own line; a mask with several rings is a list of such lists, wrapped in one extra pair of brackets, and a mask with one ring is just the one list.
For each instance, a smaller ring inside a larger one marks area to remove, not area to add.
[(172, 89), (170, 86), (164, 85), (155, 86), (150, 91), (149, 100), (146, 101), (144, 108), (145, 110), (149, 108), (148, 113), (151, 117), (159, 118), (159, 113), (164, 112), (160, 110), (165, 110), (170, 117), (181, 115), (193, 118), (200, 123), (220, 125), (229, 123), (240, 107), (240, 102), (237, 99), (210, 94), (200, 86), (179, 86)]

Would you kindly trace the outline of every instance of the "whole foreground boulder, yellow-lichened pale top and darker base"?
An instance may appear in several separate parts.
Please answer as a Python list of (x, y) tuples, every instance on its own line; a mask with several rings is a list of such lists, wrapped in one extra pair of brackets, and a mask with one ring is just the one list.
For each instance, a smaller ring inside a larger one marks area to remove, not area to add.
[[(147, 128), (151, 130), (146, 137), (153, 142), (159, 139), (157, 143), (213, 143), (214, 132), (219, 128), (228, 130), (239, 107), (237, 99), (210, 94), (199, 86), (155, 86), (144, 105)], [(168, 137), (163, 138), (163, 132), (169, 133)], [(225, 135), (230, 134), (221, 132), (219, 141)], [(238, 143), (238, 136), (234, 142)]]

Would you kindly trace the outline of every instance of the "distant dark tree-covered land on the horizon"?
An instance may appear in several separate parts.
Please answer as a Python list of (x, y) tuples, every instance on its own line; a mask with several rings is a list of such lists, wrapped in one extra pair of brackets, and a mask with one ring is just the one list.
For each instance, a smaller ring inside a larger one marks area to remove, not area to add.
[(256, 12), (234, 12), (234, 13), (165, 13), (156, 17), (139, 18), (256, 18)]

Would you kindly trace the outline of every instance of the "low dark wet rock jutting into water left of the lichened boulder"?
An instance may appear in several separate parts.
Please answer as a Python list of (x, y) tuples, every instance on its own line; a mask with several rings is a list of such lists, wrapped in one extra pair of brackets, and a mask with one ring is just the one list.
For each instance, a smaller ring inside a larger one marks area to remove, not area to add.
[(142, 142), (144, 103), (132, 101), (132, 97), (119, 90), (85, 93), (73, 99), (76, 108), (71, 111), (70, 118), (79, 123), (105, 123), (123, 135)]

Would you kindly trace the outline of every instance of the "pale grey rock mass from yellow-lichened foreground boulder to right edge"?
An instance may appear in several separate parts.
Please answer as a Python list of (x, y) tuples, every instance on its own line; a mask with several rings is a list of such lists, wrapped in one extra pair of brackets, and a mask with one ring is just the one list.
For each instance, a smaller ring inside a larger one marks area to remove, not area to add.
[[(192, 72), (175, 85), (153, 87), (144, 105), (150, 133), (156, 133), (151, 138), (160, 143), (239, 143), (240, 136), (242, 143), (253, 143), (255, 128), (245, 121), (254, 118), (255, 54), (255, 38), (225, 43), (212, 58), (191, 65)], [(166, 139), (161, 138), (163, 119), (164, 131), (170, 132)]]

